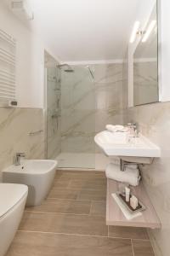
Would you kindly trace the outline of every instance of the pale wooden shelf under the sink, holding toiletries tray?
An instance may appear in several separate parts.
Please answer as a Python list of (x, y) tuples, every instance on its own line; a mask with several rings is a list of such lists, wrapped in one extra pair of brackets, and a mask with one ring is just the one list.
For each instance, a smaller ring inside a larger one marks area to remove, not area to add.
[(140, 183), (138, 187), (131, 187), (133, 195), (139, 198), (146, 210), (142, 212), (142, 216), (127, 220), (124, 217), (122, 210), (117, 206), (116, 201), (111, 196), (112, 193), (118, 191), (118, 185), (116, 181), (107, 179), (107, 203), (106, 203), (106, 224), (115, 226), (130, 226), (130, 227), (144, 227), (157, 229), (161, 228), (160, 219), (157, 217), (156, 211), (150, 202), (150, 198), (147, 195), (143, 183)]

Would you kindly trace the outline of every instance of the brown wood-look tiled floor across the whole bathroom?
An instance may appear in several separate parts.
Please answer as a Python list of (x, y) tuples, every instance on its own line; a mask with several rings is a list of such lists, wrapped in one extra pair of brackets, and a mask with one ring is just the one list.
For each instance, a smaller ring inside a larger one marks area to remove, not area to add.
[(6, 256), (154, 256), (146, 230), (105, 225), (105, 195), (104, 172), (57, 171)]

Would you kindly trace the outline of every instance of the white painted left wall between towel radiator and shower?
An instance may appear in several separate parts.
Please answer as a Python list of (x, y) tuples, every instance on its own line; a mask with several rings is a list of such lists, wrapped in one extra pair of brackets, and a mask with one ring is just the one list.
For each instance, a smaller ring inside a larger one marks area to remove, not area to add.
[(16, 99), (20, 108), (43, 108), (44, 45), (3, 3), (0, 28), (17, 40)]

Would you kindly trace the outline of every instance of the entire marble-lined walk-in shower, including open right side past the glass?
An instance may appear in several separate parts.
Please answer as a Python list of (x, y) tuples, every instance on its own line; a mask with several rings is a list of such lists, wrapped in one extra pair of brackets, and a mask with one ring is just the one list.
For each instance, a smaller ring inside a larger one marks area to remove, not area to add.
[(106, 124), (122, 124), (122, 63), (46, 66), (47, 157), (61, 168), (105, 170), (94, 143)]

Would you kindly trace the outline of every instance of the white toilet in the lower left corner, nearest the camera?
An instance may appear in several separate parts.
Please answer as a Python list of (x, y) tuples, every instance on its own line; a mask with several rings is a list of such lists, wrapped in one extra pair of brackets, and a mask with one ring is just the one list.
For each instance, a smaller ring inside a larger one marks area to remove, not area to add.
[(27, 194), (26, 185), (0, 183), (0, 256), (5, 255), (18, 230)]

